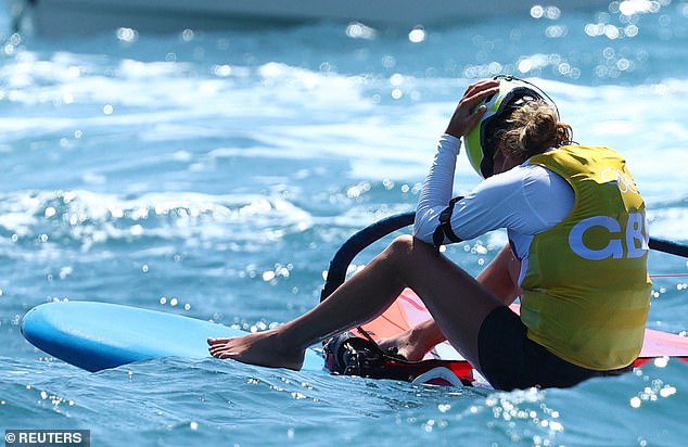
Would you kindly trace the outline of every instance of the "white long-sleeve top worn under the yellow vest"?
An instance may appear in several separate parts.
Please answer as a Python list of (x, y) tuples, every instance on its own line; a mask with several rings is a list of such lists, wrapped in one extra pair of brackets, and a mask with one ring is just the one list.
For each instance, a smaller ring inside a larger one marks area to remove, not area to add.
[[(413, 224), (413, 235), (424, 242), (433, 243), (439, 214), (451, 199), (460, 149), (461, 140), (456, 137), (444, 135), (439, 139), (435, 159), (420, 193)], [(563, 220), (573, 203), (573, 189), (563, 178), (542, 166), (528, 165), (526, 161), (485, 179), (457, 202), (451, 214), (451, 229), (461, 240), (470, 240), (506, 228), (515, 255), (524, 259), (533, 235)]]

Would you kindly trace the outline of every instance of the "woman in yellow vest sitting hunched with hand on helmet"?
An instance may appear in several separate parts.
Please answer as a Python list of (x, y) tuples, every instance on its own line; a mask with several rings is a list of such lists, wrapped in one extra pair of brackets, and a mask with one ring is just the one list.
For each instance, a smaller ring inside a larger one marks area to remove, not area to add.
[[(277, 329), (211, 339), (212, 355), (298, 369), (304, 350), (380, 315), (412, 289), (433, 319), (395, 340), (419, 359), (448, 340), (496, 388), (572, 386), (628, 370), (649, 308), (645, 205), (623, 158), (569, 144), (571, 128), (536, 87), (471, 85), (400, 237), (307, 314)], [(450, 201), (460, 139), (485, 180)], [(473, 279), (443, 243), (506, 228), (509, 244)], [(508, 305), (521, 298), (521, 316)]]

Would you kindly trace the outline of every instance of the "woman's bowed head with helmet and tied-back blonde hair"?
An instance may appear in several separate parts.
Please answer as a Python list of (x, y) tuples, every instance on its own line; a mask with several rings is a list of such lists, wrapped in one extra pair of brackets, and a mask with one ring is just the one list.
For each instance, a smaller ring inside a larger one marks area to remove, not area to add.
[(534, 85), (512, 76), (498, 76), (499, 92), (487, 98), (477, 123), (464, 136), (473, 168), (487, 178), (495, 156), (524, 162), (532, 155), (571, 140), (571, 127), (559, 120), (555, 102)]

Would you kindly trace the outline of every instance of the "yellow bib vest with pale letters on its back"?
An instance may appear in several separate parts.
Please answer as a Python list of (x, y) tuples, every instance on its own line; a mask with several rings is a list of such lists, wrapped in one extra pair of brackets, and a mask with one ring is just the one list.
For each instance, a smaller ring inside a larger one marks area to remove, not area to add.
[(536, 234), (521, 286), (527, 336), (593, 370), (628, 366), (642, 347), (652, 283), (645, 203), (617, 152), (568, 145), (538, 154), (573, 188), (572, 212)]

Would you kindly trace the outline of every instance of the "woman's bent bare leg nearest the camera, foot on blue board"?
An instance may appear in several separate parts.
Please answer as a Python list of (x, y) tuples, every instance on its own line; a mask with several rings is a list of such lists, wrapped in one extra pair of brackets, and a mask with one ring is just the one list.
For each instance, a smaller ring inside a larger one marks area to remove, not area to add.
[(375, 318), (407, 286), (421, 297), (449, 343), (477, 366), (481, 324), (487, 314), (504, 304), (449, 259), (436, 256), (431, 245), (411, 237), (397, 238), (310, 311), (270, 331), (211, 339), (211, 354), (298, 369), (308, 346)]

